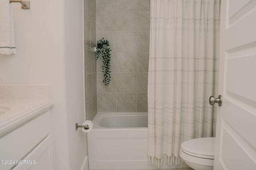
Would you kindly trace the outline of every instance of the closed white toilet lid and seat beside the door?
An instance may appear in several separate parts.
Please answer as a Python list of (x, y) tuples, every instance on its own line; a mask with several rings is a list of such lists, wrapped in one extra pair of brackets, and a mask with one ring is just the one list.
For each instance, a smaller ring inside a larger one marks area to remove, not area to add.
[(205, 137), (191, 139), (181, 144), (183, 152), (192, 156), (200, 155), (200, 157), (214, 159), (215, 137)]

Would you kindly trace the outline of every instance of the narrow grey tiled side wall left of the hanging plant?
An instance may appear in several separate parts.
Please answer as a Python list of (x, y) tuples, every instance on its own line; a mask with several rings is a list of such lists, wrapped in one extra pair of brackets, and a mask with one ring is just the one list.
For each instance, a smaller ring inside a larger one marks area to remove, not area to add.
[(84, 0), (84, 88), (86, 120), (92, 120), (97, 113), (96, 73), (96, 0)]

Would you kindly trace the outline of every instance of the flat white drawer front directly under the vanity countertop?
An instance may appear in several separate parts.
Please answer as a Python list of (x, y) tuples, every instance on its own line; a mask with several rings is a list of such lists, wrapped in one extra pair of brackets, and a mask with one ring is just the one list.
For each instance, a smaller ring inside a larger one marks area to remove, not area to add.
[[(24, 125), (0, 138), (0, 160), (22, 160), (50, 133), (50, 112), (39, 115)], [(7, 162), (8, 163), (8, 162)], [(9, 169), (14, 164), (0, 164), (0, 169)]]

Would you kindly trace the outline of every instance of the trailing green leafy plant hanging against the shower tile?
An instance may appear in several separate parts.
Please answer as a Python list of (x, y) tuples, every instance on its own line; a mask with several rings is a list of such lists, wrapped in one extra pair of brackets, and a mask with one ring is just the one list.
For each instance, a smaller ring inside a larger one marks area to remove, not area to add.
[(103, 66), (102, 66), (102, 72), (104, 73), (104, 84), (108, 86), (110, 82), (110, 47), (109, 43), (106, 39), (102, 38), (99, 41), (97, 41), (97, 60), (100, 56), (102, 56), (103, 59)]

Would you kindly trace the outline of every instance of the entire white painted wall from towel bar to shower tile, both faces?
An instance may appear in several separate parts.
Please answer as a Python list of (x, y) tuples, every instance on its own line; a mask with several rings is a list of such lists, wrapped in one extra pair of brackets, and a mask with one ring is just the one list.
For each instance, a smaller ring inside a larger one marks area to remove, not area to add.
[(0, 84), (50, 84), (54, 169), (80, 169), (85, 135), (74, 126), (84, 121), (82, 0), (13, 7), (16, 55), (0, 55)]

